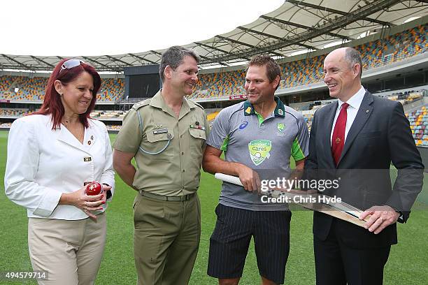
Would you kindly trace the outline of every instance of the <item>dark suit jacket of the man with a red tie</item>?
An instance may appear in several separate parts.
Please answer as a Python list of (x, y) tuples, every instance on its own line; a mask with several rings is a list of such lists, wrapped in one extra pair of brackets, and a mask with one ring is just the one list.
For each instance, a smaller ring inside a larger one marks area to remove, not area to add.
[[(341, 177), (338, 189), (328, 189), (324, 194), (340, 196), (361, 210), (373, 205), (390, 205), (401, 211), (402, 221), (406, 221), (422, 189), (424, 166), (403, 106), (366, 92), (336, 167), (331, 155), (330, 133), (337, 107), (338, 102), (331, 103), (315, 112), (309, 156), (305, 161), (306, 177)], [(390, 182), (391, 162), (398, 169), (394, 188)], [(318, 170), (318, 173), (315, 175), (311, 170)], [(314, 212), (314, 235), (325, 240), (332, 221), (331, 216)], [(337, 220), (336, 223), (342, 241), (351, 247), (384, 247), (397, 243), (396, 224), (374, 235), (346, 221)]]

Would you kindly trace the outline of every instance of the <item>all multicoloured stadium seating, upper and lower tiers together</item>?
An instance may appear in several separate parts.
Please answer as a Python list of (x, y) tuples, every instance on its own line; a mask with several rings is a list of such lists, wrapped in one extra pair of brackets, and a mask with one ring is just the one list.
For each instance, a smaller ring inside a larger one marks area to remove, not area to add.
[[(427, 52), (427, 32), (428, 24), (408, 29), (392, 36), (387, 36), (381, 40), (371, 41), (355, 47), (362, 54), (364, 70), (386, 66), (403, 59), (408, 59), (418, 54)], [(324, 77), (322, 66), (325, 55), (301, 59), (298, 61), (290, 61), (280, 64), (282, 80), (280, 88), (299, 87), (315, 82), (320, 82)], [(42, 77), (25, 77), (13, 75), (0, 76), (0, 99), (10, 101), (41, 101), (44, 96), (45, 85), (48, 78)], [(204, 73), (199, 75), (199, 81), (194, 88), (194, 93), (189, 96), (192, 99), (218, 99), (229, 98), (229, 96), (244, 95), (243, 88), (245, 82), (245, 69), (229, 72)], [(124, 79), (122, 78), (103, 78), (101, 90), (97, 94), (98, 102), (114, 102), (122, 98), (124, 94)], [(386, 96), (386, 95), (384, 95)], [(427, 96), (425, 91), (406, 91), (397, 92), (389, 96), (390, 100), (399, 101), (403, 105), (413, 103)], [(315, 110), (321, 108), (322, 105), (299, 105), (299, 112), (302, 112), (311, 129), (313, 114)], [(28, 107), (29, 104), (26, 105)], [(31, 106), (30, 106), (31, 108)], [(208, 122), (213, 123), (213, 120), (218, 115), (218, 110), (212, 109), (207, 115)], [(13, 118), (22, 117), (29, 113), (28, 108), (0, 108), (0, 117)], [(96, 110), (91, 116), (101, 120), (117, 120), (121, 121), (125, 112), (122, 111), (104, 111)], [(428, 147), (428, 110), (423, 107), (406, 114), (411, 122), (411, 129), (416, 145)], [(9, 120), (9, 119), (5, 119)], [(8, 126), (9, 122), (3, 123), (0, 126)], [(119, 125), (109, 125), (110, 130), (119, 130)]]

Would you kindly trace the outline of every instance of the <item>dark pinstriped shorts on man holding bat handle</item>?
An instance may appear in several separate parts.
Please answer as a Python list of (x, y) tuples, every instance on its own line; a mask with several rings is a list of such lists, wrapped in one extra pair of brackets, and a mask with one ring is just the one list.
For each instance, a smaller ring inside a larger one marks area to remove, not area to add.
[(208, 275), (215, 278), (242, 276), (251, 237), (262, 277), (284, 283), (285, 263), (290, 252), (290, 211), (250, 211), (215, 208), (217, 223), (210, 239)]

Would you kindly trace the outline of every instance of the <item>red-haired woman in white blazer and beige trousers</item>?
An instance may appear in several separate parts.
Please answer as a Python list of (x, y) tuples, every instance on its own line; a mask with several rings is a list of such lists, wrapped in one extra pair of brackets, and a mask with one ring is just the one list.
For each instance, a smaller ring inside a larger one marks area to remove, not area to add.
[[(50, 75), (41, 109), (13, 122), (6, 196), (27, 208), (29, 256), (39, 284), (94, 284), (106, 243), (114, 171), (106, 126), (90, 118), (101, 78), (79, 59)], [(98, 195), (85, 184), (98, 181)]]

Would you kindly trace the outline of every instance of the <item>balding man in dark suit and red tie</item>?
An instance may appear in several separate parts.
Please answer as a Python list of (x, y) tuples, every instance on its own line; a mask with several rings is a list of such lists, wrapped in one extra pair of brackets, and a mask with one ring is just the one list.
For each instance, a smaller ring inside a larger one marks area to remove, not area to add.
[[(366, 224), (314, 212), (317, 284), (382, 284), (396, 222), (406, 222), (422, 189), (424, 166), (403, 106), (364, 90), (361, 75), (361, 57), (351, 47), (324, 59), (324, 82), (338, 101), (315, 112), (306, 173), (339, 179), (324, 194), (365, 210), (359, 219)], [(393, 188), (391, 162), (398, 169)]]

